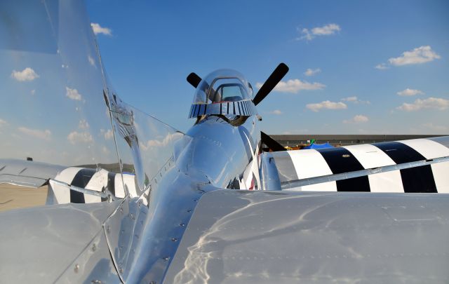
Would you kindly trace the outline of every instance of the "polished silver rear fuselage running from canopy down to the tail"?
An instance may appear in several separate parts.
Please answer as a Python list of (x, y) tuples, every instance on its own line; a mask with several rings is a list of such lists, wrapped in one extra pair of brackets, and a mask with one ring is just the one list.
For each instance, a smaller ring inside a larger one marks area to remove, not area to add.
[(250, 167), (257, 163), (260, 144), (257, 117), (249, 116), (239, 126), (225, 119), (215, 115), (199, 119), (187, 131), (189, 142), (180, 149), (173, 168), (149, 194), (138, 257), (126, 279), (130, 283), (163, 278), (202, 194), (243, 189), (243, 175), (254, 178), (250, 184), (258, 188), (259, 175), (253, 170), (258, 168)]

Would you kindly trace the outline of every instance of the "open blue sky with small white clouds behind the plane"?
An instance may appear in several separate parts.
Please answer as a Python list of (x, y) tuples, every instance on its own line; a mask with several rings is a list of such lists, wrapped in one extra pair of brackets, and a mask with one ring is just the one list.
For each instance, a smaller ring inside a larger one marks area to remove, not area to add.
[(179, 130), (194, 122), (190, 72), (236, 69), (257, 86), (285, 62), (258, 106), (264, 132), (449, 133), (448, 1), (86, 4), (119, 95)]

